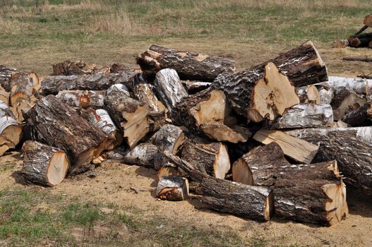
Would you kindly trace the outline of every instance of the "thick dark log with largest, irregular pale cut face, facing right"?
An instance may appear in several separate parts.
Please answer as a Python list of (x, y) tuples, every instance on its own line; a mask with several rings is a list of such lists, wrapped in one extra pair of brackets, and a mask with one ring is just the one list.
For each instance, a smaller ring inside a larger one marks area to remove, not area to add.
[(254, 122), (282, 116), (289, 107), (299, 104), (294, 86), (272, 62), (264, 68), (222, 74), (212, 88), (222, 90), (236, 113)]

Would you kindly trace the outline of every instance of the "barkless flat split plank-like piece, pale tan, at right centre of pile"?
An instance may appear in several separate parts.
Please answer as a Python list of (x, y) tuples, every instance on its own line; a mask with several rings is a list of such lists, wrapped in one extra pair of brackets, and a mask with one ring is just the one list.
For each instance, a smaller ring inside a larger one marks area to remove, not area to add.
[(308, 143), (305, 140), (294, 138), (282, 131), (261, 129), (256, 133), (256, 135), (253, 135), (253, 139), (265, 145), (276, 142), (280, 147), (282, 147), (284, 155), (305, 164), (310, 164), (316, 156), (316, 152), (318, 152), (317, 145)]

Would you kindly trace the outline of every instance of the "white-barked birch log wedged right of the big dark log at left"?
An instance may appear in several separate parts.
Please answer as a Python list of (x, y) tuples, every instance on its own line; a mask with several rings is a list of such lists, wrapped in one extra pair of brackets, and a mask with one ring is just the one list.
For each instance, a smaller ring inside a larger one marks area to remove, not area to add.
[(113, 150), (122, 143), (123, 135), (106, 110), (89, 108), (81, 111), (80, 116), (83, 116), (84, 119), (87, 119), (90, 123), (93, 123), (93, 125), (107, 134), (107, 138), (112, 141), (112, 143), (107, 146), (107, 150)]

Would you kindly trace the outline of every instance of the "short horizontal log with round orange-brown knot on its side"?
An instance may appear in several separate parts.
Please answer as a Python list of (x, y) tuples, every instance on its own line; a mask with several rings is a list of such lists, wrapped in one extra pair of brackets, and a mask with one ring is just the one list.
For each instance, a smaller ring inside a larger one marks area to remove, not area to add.
[(104, 90), (63, 90), (56, 95), (61, 102), (70, 107), (92, 107), (94, 109), (103, 107), (104, 96), (106, 96)]

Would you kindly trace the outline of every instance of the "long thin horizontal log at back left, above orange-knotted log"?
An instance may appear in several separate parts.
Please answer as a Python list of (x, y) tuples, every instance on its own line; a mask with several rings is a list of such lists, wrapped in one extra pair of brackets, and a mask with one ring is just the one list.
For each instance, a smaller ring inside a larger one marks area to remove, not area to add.
[(83, 76), (47, 76), (42, 79), (42, 95), (56, 95), (63, 90), (107, 90), (114, 84), (131, 87), (131, 78), (126, 73), (95, 73)]

